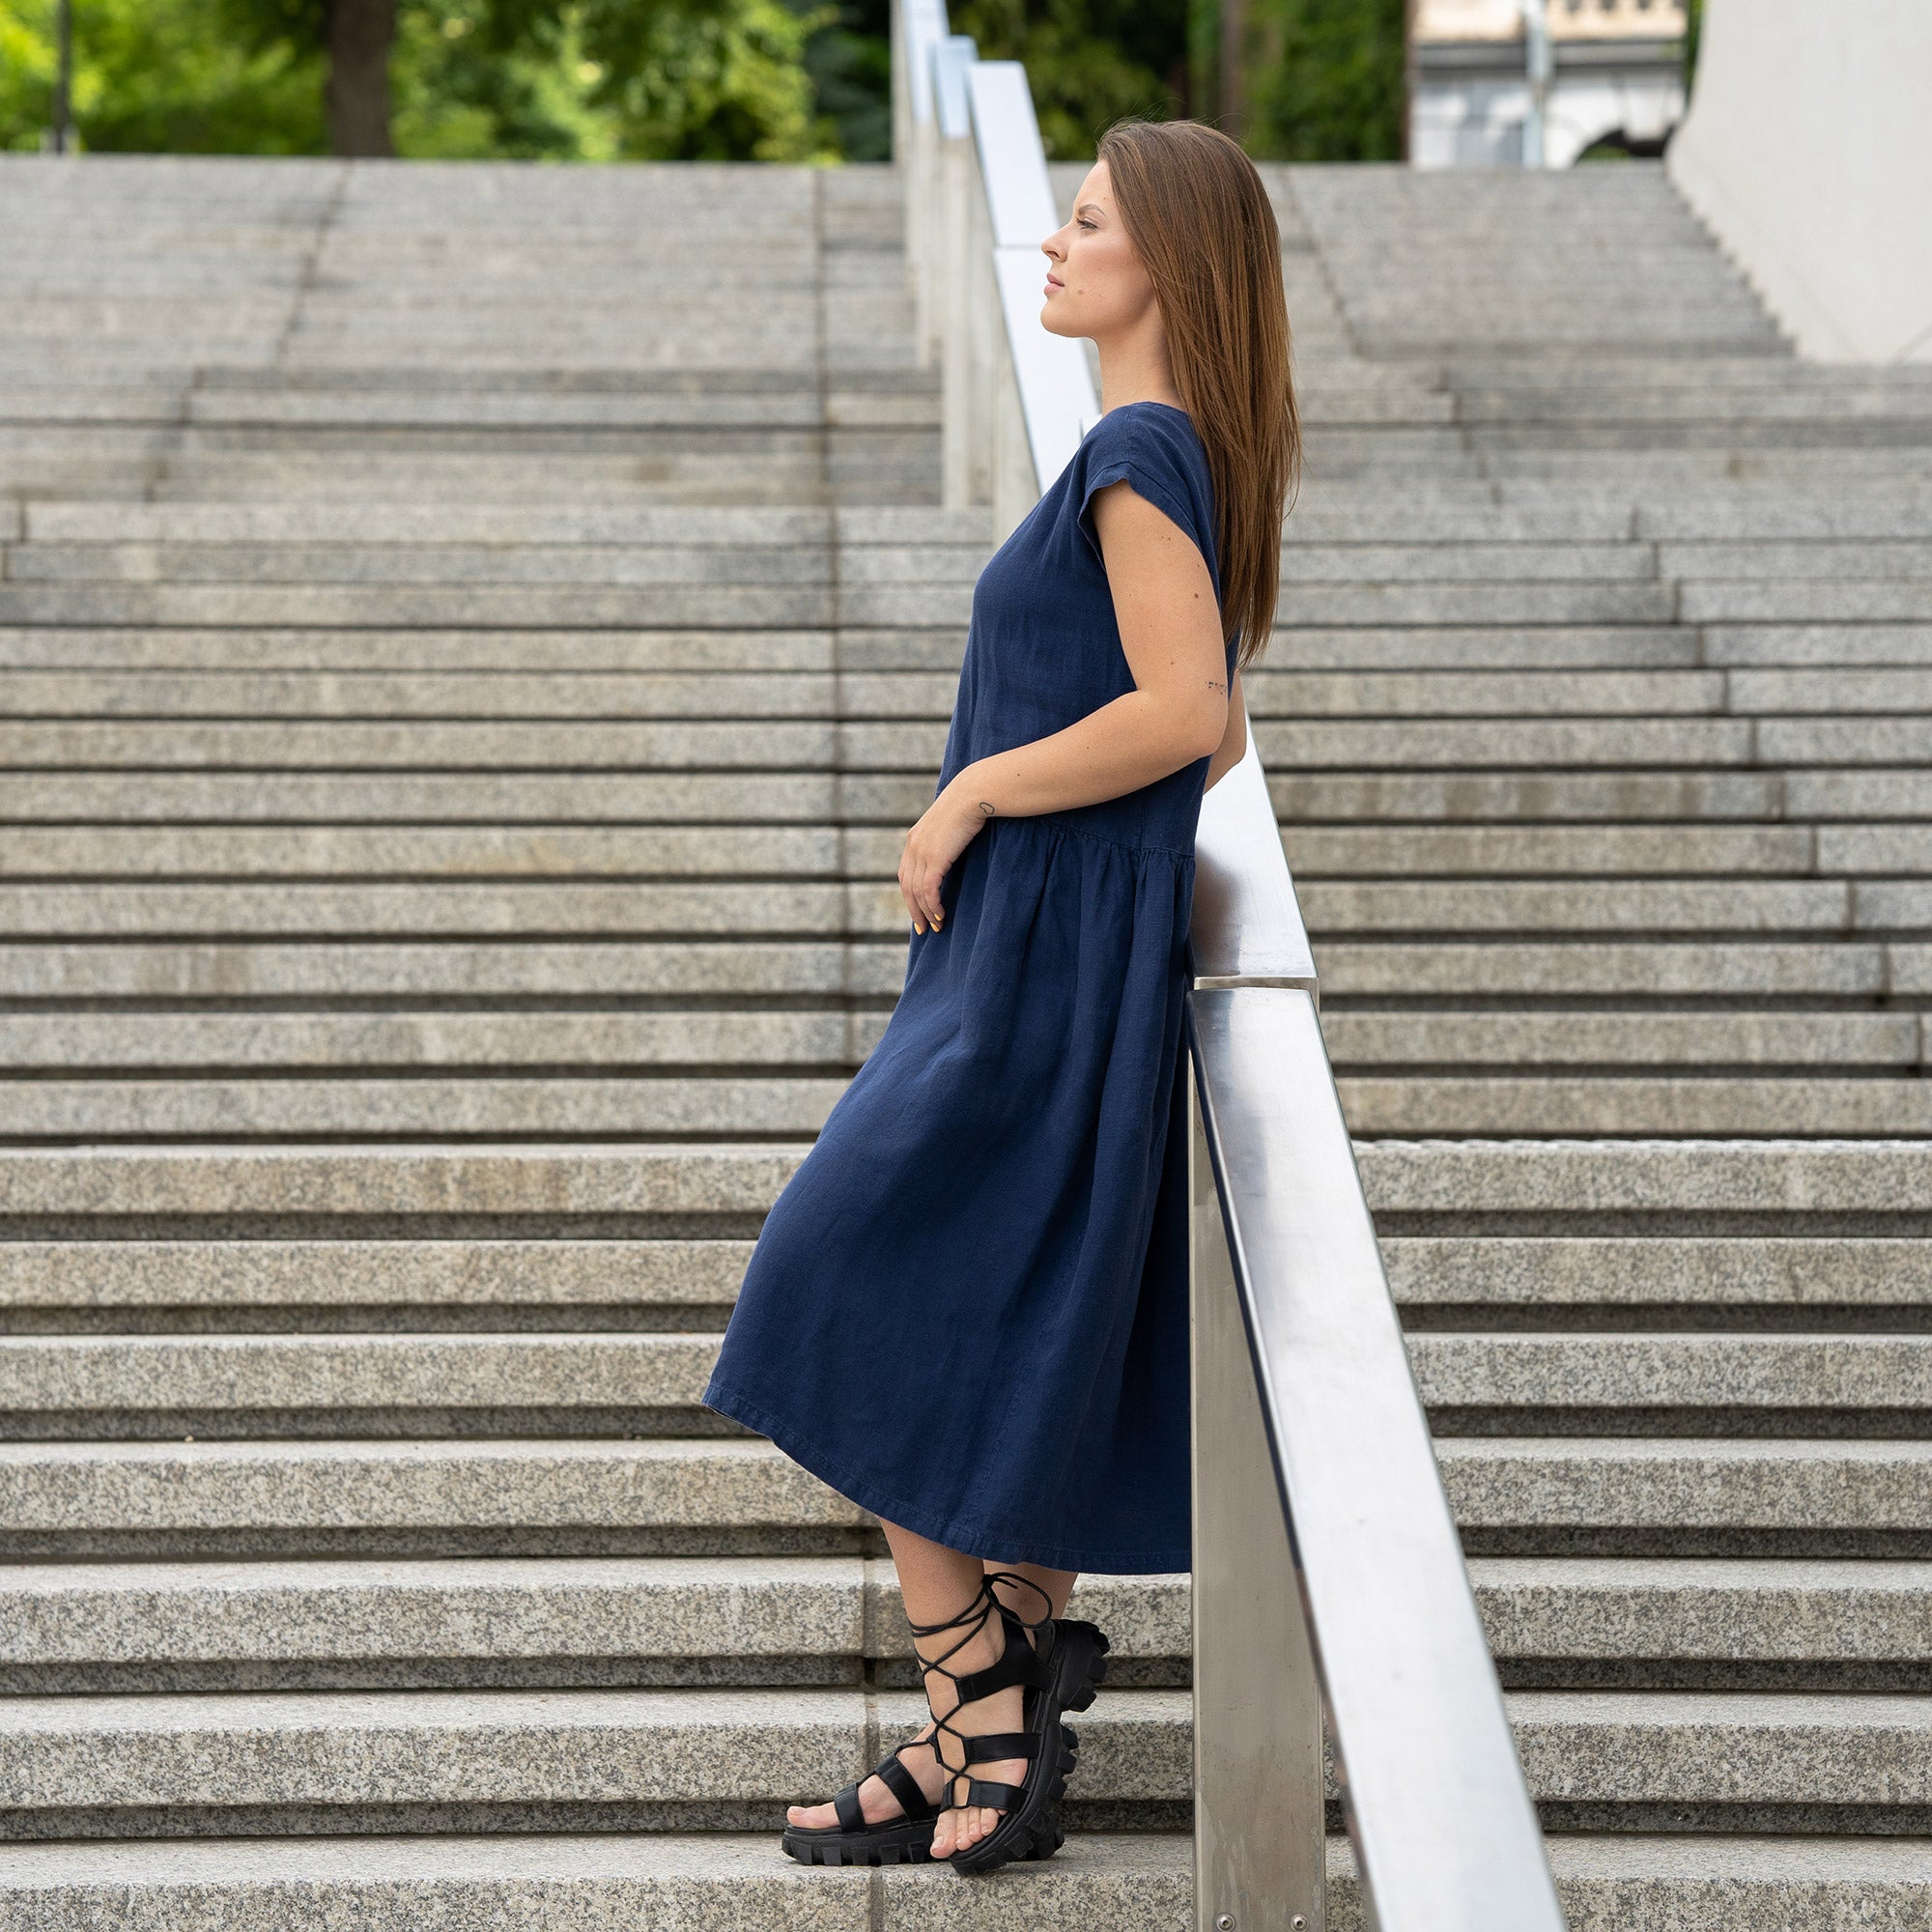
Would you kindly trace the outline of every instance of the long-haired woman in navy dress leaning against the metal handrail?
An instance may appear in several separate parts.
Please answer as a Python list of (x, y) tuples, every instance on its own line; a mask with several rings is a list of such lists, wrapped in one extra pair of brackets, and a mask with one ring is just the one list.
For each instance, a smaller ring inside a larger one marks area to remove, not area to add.
[(1298, 460), (1281, 242), (1194, 122), (1126, 124), (1041, 243), (1099, 423), (974, 591), (906, 985), (759, 1235), (705, 1403), (885, 1528), (933, 1716), (813, 1864), (1049, 1857), (1084, 1569), (1188, 1567), (1194, 831), (1246, 750)]

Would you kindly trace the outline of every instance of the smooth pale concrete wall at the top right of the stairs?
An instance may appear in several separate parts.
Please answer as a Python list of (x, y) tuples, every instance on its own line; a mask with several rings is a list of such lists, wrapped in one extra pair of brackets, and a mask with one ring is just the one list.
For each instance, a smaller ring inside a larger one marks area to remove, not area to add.
[(1932, 0), (1706, 0), (1667, 166), (1818, 361), (1932, 361)]

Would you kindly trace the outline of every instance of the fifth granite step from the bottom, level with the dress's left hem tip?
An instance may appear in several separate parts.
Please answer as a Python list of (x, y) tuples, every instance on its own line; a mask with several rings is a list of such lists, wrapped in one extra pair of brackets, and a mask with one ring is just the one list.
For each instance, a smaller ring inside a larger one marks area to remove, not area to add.
[[(12, 1335), (0, 1435), (692, 1434), (717, 1337)], [(1932, 1337), (1416, 1333), (1451, 1430), (1932, 1435)]]

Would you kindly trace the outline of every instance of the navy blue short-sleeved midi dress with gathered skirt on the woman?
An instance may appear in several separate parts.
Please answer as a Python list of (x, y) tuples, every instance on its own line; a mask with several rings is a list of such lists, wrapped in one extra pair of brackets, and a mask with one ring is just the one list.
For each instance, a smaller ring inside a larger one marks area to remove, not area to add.
[[(1109, 410), (980, 574), (941, 788), (1134, 690), (1090, 512), (1122, 479), (1219, 591), (1192, 419)], [(1177, 1063), (1206, 779), (1200, 757), (981, 827), (765, 1219), (705, 1389), (840, 1495), (968, 1555), (1190, 1563)]]

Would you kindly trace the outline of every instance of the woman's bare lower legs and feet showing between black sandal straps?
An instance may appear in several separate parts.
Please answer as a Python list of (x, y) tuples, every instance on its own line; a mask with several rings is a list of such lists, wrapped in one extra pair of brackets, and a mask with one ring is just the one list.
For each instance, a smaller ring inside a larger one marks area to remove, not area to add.
[[(1020, 1577), (1030, 1578), (1039, 1584), (1051, 1602), (1053, 1615), (1059, 1617), (1066, 1609), (1066, 1598), (1072, 1592), (1076, 1573), (1074, 1571), (1049, 1571), (1037, 1563), (991, 1563), (980, 1557), (960, 1555), (956, 1549), (947, 1549), (945, 1544), (929, 1542), (923, 1536), (914, 1536), (912, 1530), (900, 1530), (895, 1524), (885, 1524), (885, 1536), (893, 1549), (893, 1563), (898, 1569), (898, 1588), (906, 1602), (906, 1615), (914, 1623), (939, 1623), (945, 1617), (954, 1617), (966, 1604), (972, 1602), (974, 1594), (980, 1590), (980, 1578), (987, 1571), (1014, 1571)], [(910, 1571), (910, 1575), (908, 1575)], [(1032, 1590), (1022, 1590), (1016, 1584), (995, 1584), (995, 1594), (1009, 1604), (1020, 1617), (1036, 1621), (1043, 1615), (1045, 1605)], [(937, 1605), (937, 1607), (935, 1607)], [(999, 1619), (989, 1619), (989, 1629), (999, 1633), (987, 1636), (981, 1633), (966, 1650), (958, 1656), (947, 1658), (947, 1669), (966, 1671), (983, 1669), (991, 1663), (1001, 1648), (1005, 1648), (1005, 1625)], [(929, 1638), (925, 1644), (925, 1654), (935, 1658), (943, 1654), (951, 1644), (956, 1644), (962, 1633), (945, 1631), (937, 1638)], [(935, 1708), (941, 1716), (951, 1710), (951, 1687), (945, 1677), (933, 1675), (929, 1681)], [(1016, 1731), (1020, 1729), (1020, 1696), (1018, 1687), (1012, 1690), (1001, 1690), (997, 1696), (987, 1698), (983, 1704), (974, 1704), (968, 1708), (966, 1716), (960, 1718), (960, 1731), (968, 1737), (978, 1737), (985, 1731)], [(1007, 1706), (1012, 1706), (1010, 1712)], [(999, 1721), (989, 1719), (987, 1712), (1005, 1712)], [(933, 1733), (931, 1723), (920, 1729), (920, 1739), (929, 1739)], [(900, 1747), (900, 1762), (908, 1772), (920, 1781), (920, 1789), (933, 1803), (939, 1801), (941, 1789), (945, 1785), (945, 1772), (939, 1760), (933, 1756), (931, 1748), (918, 1750), (914, 1745)], [(1026, 1779), (1026, 1760), (1016, 1758), (1007, 1764), (980, 1764), (974, 1768), (978, 1777), (1001, 1777), (1007, 1783), (1024, 1783)], [(887, 1791), (879, 1777), (867, 1777), (858, 1787), (860, 1810), (867, 1824), (883, 1824), (885, 1820), (900, 1816), (898, 1799)], [(811, 1828), (835, 1826), (838, 1814), (831, 1804), (792, 1804), (786, 1818)], [(954, 1826), (960, 1826), (966, 1818), (976, 1820), (970, 1835), (960, 1832), (954, 1835)], [(999, 1820), (997, 1810), (985, 1806), (974, 1806), (970, 1812), (945, 1812), (933, 1833), (933, 1857), (945, 1859), (962, 1845), (970, 1845), (980, 1837), (985, 1837)], [(945, 1833), (945, 1837), (941, 1837)]]

